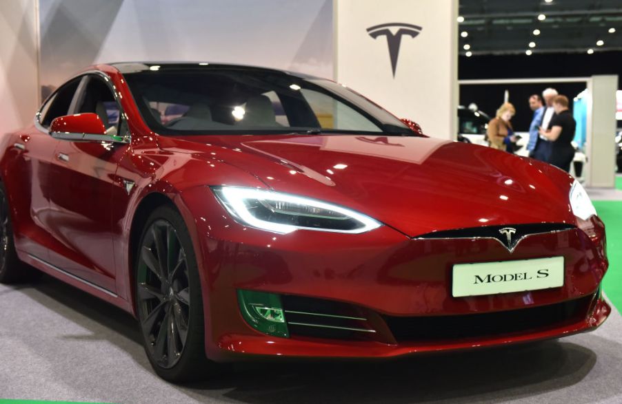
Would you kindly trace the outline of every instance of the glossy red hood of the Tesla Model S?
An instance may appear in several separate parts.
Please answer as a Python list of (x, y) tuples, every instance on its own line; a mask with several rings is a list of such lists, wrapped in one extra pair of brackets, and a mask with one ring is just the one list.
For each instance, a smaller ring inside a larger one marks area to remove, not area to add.
[(185, 136), (163, 149), (232, 164), (267, 187), (348, 206), (414, 237), (452, 228), (574, 224), (572, 177), (488, 147), (399, 136)]

